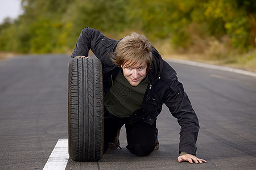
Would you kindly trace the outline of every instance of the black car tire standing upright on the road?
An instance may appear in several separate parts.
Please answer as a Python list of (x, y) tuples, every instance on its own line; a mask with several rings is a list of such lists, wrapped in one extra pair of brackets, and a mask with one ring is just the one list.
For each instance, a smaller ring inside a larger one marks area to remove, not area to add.
[(100, 160), (104, 146), (102, 66), (96, 57), (68, 64), (68, 152), (77, 162)]

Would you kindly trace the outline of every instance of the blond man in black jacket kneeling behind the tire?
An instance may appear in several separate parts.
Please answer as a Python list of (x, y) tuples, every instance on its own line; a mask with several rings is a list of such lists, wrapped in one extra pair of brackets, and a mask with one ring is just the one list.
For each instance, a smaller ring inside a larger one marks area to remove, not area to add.
[(123, 125), (132, 154), (147, 156), (158, 150), (156, 117), (166, 104), (181, 126), (178, 161), (206, 162), (195, 156), (199, 122), (183, 85), (145, 36), (132, 33), (115, 41), (85, 28), (71, 57), (87, 57), (90, 49), (102, 63), (104, 152), (119, 147)]

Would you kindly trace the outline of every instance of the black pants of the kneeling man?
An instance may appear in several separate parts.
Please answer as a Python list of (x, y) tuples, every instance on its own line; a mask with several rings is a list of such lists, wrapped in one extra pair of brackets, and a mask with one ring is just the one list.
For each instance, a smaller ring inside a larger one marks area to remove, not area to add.
[(129, 124), (130, 117), (120, 118), (105, 111), (104, 119), (104, 152), (108, 150), (108, 143), (117, 136), (117, 130), (125, 125), (127, 150), (137, 156), (151, 154), (156, 146), (156, 121), (152, 125), (146, 122)]

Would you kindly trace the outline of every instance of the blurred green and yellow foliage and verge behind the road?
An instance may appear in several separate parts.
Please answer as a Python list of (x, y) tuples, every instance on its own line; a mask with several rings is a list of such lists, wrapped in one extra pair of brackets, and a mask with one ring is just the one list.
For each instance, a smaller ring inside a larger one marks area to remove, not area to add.
[(0, 51), (68, 53), (85, 27), (112, 39), (138, 32), (163, 57), (256, 71), (255, 0), (22, 0), (0, 25)]

